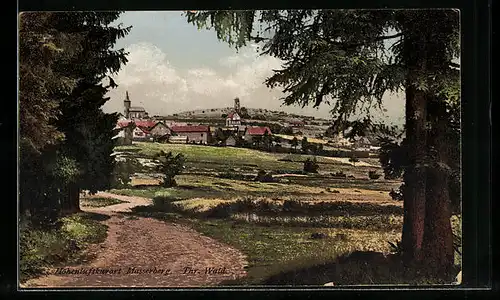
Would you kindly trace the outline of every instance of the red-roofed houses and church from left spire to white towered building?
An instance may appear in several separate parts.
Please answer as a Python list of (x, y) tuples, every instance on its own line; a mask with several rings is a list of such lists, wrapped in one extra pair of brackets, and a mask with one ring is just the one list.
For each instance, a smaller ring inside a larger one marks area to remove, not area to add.
[(262, 136), (266, 132), (272, 134), (268, 127), (250, 127), (243, 124), (238, 114), (238, 98), (234, 100), (233, 111), (226, 117), (225, 126), (220, 127), (154, 120), (143, 107), (131, 106), (128, 92), (123, 103), (124, 114), (120, 114), (115, 127), (118, 130), (115, 138), (122, 145), (132, 144), (132, 141), (209, 144), (212, 143), (216, 131), (221, 130), (226, 136), (224, 145), (235, 146), (238, 139), (252, 142), (255, 136)]

